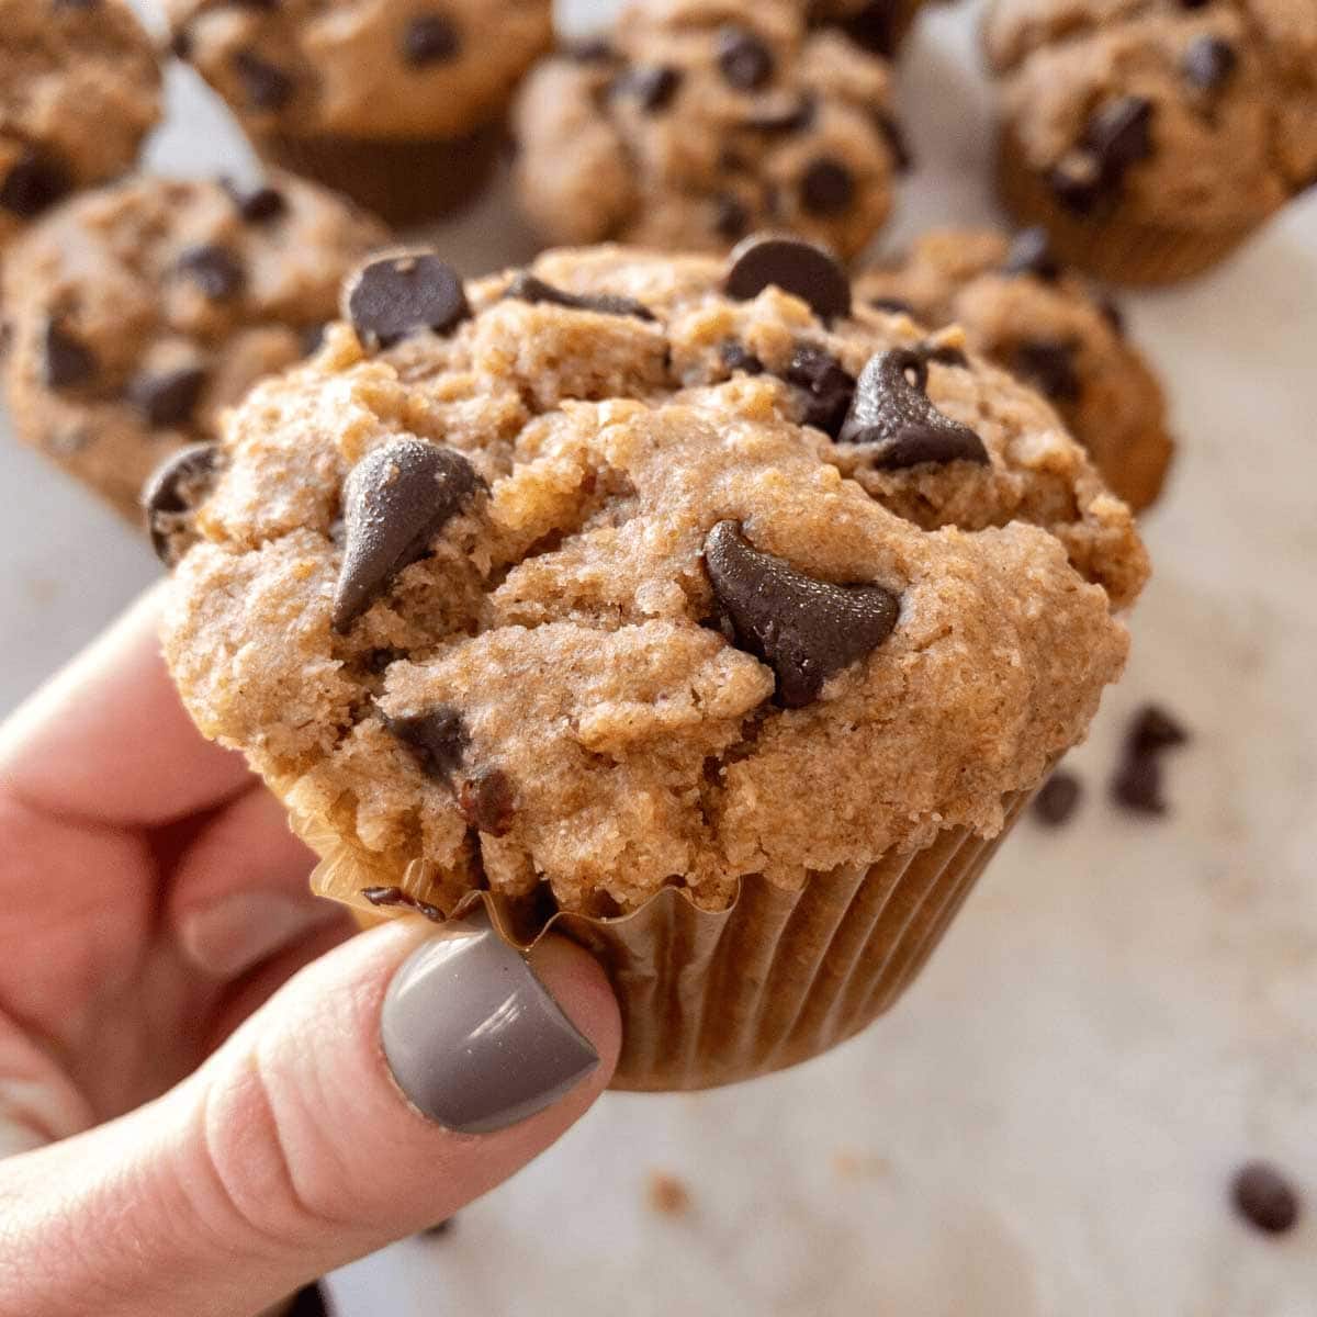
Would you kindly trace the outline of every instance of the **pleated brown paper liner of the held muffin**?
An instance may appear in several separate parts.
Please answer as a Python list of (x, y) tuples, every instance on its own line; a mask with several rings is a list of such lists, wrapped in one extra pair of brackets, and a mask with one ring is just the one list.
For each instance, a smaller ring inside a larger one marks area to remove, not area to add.
[[(726, 910), (701, 910), (685, 890), (665, 888), (628, 915), (557, 913), (525, 927), (506, 900), (478, 892), (450, 918), (483, 905), (523, 951), (552, 930), (599, 960), (622, 1008), (612, 1088), (715, 1088), (817, 1056), (896, 1005), (1030, 795), (1006, 798), (996, 838), (948, 828), (922, 851), (810, 872), (798, 890), (749, 876)], [(312, 890), (350, 906), (362, 926), (408, 913), (370, 905), (365, 888), (433, 900), (428, 863), (399, 876), (324, 823), (294, 817), (292, 826), (321, 856)]]

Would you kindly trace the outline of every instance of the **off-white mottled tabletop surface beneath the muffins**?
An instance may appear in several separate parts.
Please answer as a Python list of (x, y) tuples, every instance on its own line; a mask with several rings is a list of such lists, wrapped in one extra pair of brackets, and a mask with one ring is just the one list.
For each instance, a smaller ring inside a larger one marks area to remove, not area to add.
[[(614, 8), (560, 5), (572, 32)], [(884, 246), (998, 217), (977, 18), (926, 9), (902, 59), (918, 167)], [(151, 163), (232, 171), (225, 112), (170, 79)], [(432, 237), (471, 274), (533, 250), (503, 180)], [(1077, 815), (1017, 830), (865, 1035), (723, 1092), (610, 1094), (452, 1230), (336, 1276), (345, 1317), (1317, 1312), (1317, 191), (1206, 278), (1121, 300), (1181, 452), (1129, 676), (1069, 763)], [(0, 491), (8, 711), (158, 568), (3, 420)], [(1147, 702), (1192, 732), (1159, 819), (1108, 797)], [(1284, 1237), (1231, 1210), (1255, 1158), (1306, 1197)]]

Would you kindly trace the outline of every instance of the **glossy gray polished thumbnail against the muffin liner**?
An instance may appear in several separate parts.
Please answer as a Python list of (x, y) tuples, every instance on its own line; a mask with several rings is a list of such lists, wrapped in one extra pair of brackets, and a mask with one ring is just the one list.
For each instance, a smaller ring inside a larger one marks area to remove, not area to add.
[(525, 957), (485, 921), (450, 925), (412, 954), (389, 986), (381, 1039), (398, 1087), (458, 1134), (524, 1121), (599, 1064)]

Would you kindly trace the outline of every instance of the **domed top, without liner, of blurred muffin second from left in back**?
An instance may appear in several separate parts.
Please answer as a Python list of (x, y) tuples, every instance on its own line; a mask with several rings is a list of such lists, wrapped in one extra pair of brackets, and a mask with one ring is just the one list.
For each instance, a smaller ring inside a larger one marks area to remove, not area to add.
[(456, 137), (553, 40), (551, 0), (165, 0), (174, 49), (257, 133)]

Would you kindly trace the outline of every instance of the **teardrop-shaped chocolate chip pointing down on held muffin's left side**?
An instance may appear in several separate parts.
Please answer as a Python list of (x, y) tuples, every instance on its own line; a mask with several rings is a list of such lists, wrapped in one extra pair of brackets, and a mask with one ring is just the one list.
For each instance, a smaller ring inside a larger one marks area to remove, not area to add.
[(395, 439), (367, 453), (344, 486), (348, 544), (333, 626), (346, 631), (392, 578), (465, 511), (485, 482), (456, 449)]

